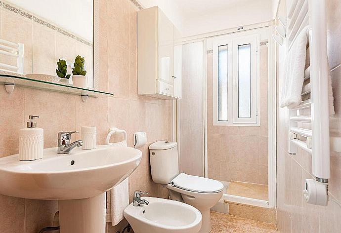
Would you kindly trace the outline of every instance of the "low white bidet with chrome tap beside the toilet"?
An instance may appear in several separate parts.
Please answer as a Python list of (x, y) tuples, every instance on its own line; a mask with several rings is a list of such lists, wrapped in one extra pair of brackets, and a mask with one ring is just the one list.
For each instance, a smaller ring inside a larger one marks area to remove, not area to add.
[(125, 217), (135, 233), (198, 233), (201, 213), (183, 202), (155, 197), (142, 197), (148, 205), (125, 209)]

